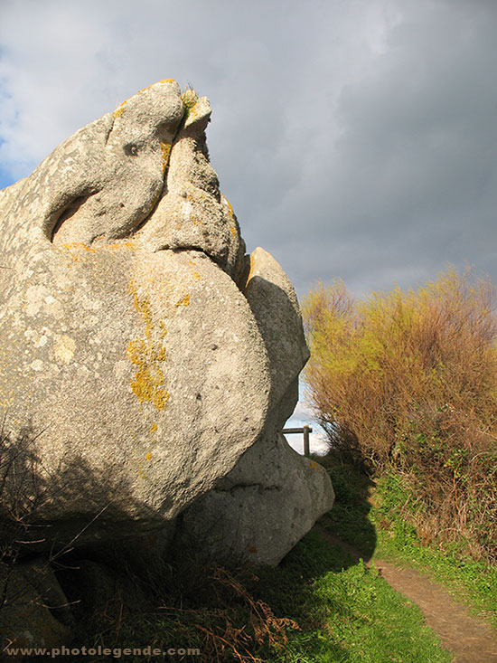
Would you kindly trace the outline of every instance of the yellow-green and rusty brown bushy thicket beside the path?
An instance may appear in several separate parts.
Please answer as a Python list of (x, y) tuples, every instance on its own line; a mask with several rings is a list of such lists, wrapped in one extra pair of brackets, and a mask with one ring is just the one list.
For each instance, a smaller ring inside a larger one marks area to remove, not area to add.
[(408, 488), (424, 542), (497, 559), (495, 289), (470, 270), (355, 301), (342, 282), (304, 303), (308, 395), (334, 453)]

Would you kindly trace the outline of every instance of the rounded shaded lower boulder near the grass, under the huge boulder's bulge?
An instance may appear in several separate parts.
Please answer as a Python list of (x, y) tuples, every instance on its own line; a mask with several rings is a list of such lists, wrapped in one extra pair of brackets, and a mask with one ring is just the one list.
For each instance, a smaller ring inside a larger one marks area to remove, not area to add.
[(326, 470), (276, 432), (258, 440), (216, 488), (183, 512), (174, 547), (220, 564), (276, 566), (333, 501)]

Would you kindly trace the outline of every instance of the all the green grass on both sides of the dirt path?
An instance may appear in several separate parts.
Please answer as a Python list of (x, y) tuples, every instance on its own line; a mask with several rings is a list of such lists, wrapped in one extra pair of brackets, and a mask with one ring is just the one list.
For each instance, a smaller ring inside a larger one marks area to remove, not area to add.
[(359, 549), (368, 566), (324, 540), (319, 529), (277, 568), (230, 573), (183, 555), (164, 566), (148, 608), (133, 611), (117, 601), (114, 611), (106, 608), (105, 619), (96, 616), (98, 628), (87, 624), (81, 643), (198, 648), (201, 657), (171, 659), (199, 663), (452, 660), (417, 606), (376, 572), (374, 560), (429, 573), (485, 614), (497, 607), (496, 570), (446, 546), (443, 552), (422, 546), (406, 519), (416, 500), (399, 477), (385, 475), (374, 483), (358, 469), (321, 460), (333, 479), (336, 501), (319, 526)]

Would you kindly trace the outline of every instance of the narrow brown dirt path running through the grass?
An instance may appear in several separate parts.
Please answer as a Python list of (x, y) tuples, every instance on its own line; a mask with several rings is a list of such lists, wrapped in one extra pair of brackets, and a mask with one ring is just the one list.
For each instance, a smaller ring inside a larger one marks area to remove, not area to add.
[[(351, 545), (321, 527), (316, 529), (326, 541), (339, 545), (359, 560), (361, 554)], [(497, 634), (490, 624), (471, 617), (467, 609), (443, 587), (414, 569), (379, 559), (375, 559), (374, 564), (394, 590), (417, 603), (427, 625), (436, 631), (444, 647), (454, 654), (455, 663), (497, 663)]]

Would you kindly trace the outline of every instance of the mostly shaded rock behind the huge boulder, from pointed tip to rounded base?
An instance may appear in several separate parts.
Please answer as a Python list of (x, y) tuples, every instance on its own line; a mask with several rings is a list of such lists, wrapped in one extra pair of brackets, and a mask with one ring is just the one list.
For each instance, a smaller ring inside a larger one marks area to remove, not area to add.
[(250, 256), (244, 292), (267, 348), (271, 409), (258, 441), (185, 510), (179, 538), (224, 563), (278, 564), (333, 507), (334, 493), (324, 468), (299, 456), (280, 432), (295, 409), (309, 351), (295, 291), (267, 251)]

